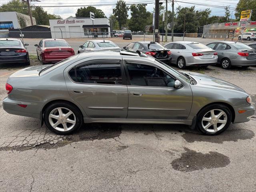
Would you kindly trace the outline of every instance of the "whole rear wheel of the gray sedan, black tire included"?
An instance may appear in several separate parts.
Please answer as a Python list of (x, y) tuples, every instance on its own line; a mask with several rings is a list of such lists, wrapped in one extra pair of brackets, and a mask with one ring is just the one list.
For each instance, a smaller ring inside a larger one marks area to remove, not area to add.
[[(67, 114), (70, 115), (65, 117)], [(56, 134), (71, 134), (82, 126), (82, 122), (83, 116), (80, 110), (70, 103), (56, 102), (50, 104), (44, 111), (44, 123), (46, 127)]]

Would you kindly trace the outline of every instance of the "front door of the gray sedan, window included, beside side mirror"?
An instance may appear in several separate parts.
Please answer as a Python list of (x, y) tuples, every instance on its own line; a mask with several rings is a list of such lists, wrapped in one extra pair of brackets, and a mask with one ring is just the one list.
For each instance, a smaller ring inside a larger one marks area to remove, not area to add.
[(130, 119), (186, 119), (192, 106), (188, 84), (174, 88), (176, 78), (150, 62), (125, 61)]

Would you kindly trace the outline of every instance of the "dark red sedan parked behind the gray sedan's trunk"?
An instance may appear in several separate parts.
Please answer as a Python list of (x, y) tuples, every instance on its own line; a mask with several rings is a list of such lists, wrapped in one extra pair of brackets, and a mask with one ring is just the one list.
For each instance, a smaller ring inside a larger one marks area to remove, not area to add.
[(42, 64), (53, 64), (75, 54), (64, 39), (42, 39), (35, 46), (37, 58)]

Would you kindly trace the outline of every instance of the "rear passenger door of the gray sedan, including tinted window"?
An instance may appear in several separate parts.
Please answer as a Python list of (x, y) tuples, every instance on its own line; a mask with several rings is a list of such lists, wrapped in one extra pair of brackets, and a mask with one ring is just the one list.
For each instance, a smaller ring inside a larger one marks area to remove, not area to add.
[(128, 91), (121, 61), (84, 59), (64, 70), (70, 97), (88, 118), (126, 118)]

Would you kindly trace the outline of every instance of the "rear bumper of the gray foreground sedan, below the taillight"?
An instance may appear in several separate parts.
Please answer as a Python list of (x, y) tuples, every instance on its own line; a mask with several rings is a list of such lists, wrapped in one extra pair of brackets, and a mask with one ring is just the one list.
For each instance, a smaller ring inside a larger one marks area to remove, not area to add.
[[(18, 106), (18, 104), (25, 104), (27, 107), (23, 108)], [(40, 119), (41, 110), (44, 104), (45, 102), (16, 100), (6, 97), (3, 100), (3, 109), (10, 114)]]

